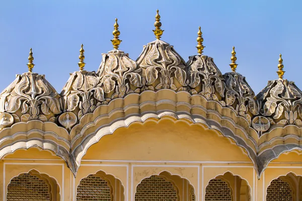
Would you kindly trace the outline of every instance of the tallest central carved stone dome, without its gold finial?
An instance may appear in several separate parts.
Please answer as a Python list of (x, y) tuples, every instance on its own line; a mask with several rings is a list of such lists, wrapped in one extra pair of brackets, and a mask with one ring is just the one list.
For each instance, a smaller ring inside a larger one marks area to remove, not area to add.
[(170, 44), (161, 40), (148, 43), (136, 61), (146, 80), (143, 90), (187, 89), (185, 61)]

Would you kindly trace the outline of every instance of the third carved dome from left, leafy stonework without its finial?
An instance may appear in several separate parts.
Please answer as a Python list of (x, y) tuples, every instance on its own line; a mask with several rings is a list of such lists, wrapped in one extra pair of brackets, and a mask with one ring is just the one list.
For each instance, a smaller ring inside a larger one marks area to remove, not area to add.
[(97, 72), (105, 97), (114, 99), (128, 93), (139, 93), (142, 86), (141, 69), (128, 57), (127, 53), (114, 49), (102, 54), (103, 59)]

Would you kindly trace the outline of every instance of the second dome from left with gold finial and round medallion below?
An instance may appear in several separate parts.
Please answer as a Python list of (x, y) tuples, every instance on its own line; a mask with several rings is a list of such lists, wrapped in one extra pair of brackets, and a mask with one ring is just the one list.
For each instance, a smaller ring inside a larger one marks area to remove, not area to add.
[(100, 87), (100, 80), (95, 71), (84, 70), (84, 49), (80, 49), (80, 71), (70, 74), (62, 89), (63, 113), (59, 123), (70, 129), (85, 114), (92, 113), (101, 104), (107, 104), (104, 90)]

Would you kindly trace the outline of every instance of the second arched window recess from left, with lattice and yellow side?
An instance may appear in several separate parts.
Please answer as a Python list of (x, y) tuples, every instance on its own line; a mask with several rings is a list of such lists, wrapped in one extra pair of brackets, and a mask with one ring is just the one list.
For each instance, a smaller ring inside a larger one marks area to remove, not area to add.
[(104, 170), (82, 177), (75, 193), (77, 200), (126, 200), (122, 181)]

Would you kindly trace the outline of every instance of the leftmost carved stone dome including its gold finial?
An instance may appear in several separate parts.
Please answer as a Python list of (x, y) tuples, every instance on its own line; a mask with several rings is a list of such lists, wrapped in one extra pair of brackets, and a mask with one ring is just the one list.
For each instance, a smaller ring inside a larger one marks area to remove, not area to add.
[(55, 115), (61, 113), (59, 94), (45, 79), (45, 75), (33, 73), (32, 49), (29, 53), (29, 71), (16, 75), (0, 94), (1, 129), (17, 122), (40, 120), (55, 122)]

